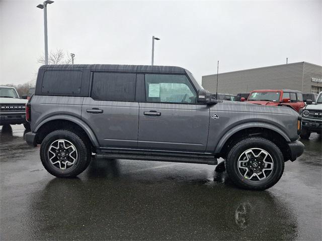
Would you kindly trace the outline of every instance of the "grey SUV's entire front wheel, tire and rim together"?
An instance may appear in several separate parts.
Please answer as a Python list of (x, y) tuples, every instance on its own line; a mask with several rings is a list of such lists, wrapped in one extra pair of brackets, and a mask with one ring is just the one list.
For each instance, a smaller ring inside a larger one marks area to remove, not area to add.
[(254, 137), (235, 144), (227, 155), (226, 170), (239, 187), (265, 190), (281, 178), (284, 158), (271, 141)]

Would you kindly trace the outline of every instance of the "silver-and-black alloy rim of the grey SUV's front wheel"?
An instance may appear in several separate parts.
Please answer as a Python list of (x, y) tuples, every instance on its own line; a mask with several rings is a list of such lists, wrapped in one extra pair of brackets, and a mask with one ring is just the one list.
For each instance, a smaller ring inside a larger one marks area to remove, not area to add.
[(250, 181), (267, 179), (274, 168), (272, 156), (261, 148), (251, 148), (243, 152), (237, 161), (238, 172)]

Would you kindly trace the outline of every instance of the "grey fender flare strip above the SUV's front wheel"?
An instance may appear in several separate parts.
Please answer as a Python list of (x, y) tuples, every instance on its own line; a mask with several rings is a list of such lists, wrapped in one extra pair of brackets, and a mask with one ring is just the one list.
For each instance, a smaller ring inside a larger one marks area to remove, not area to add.
[(291, 140), (289, 139), (289, 137), (279, 128), (271, 125), (271, 124), (267, 124), (267, 123), (260, 123), (260, 122), (251, 122), (251, 123), (245, 123), (245, 124), (241, 124), (238, 125), (236, 127), (233, 127), (232, 129), (230, 129), (228, 132), (226, 132), (225, 135), (223, 135), (220, 139), (220, 141), (218, 142), (217, 147), (215, 148), (215, 152), (214, 153), (220, 153), (222, 147), (224, 146), (224, 144), (226, 143), (226, 141), (235, 133), (244, 130), (244, 129), (248, 129), (248, 128), (266, 128), (266, 129), (270, 129), (272, 131), (275, 131), (276, 133), (280, 134), (286, 142), (291, 142)]

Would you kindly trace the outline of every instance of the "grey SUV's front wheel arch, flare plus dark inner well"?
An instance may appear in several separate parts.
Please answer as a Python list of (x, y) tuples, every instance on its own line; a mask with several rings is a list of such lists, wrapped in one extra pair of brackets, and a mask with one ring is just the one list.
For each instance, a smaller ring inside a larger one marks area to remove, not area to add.
[(247, 123), (232, 128), (218, 142), (215, 154), (225, 158), (232, 145), (250, 136), (259, 136), (272, 141), (282, 151), (284, 160), (289, 160), (289, 152), (283, 150), (289, 149), (287, 143), (291, 140), (282, 130), (266, 123)]

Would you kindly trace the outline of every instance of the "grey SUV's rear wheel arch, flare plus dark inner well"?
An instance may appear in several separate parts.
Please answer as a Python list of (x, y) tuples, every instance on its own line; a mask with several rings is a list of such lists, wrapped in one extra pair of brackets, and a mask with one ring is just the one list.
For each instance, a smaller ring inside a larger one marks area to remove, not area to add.
[(99, 147), (92, 129), (81, 119), (71, 115), (54, 115), (44, 119), (34, 130), (35, 133), (38, 133), (37, 142), (41, 142), (48, 133), (58, 129), (81, 132), (88, 138), (93, 147)]

